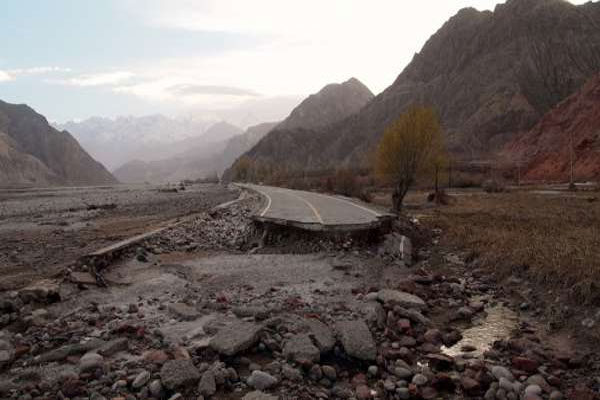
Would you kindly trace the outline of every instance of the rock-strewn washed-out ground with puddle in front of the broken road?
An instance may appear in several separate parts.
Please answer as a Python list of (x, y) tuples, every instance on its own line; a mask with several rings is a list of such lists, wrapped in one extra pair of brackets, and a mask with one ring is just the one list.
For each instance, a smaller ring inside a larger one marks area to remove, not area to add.
[[(103, 271), (108, 288), (82, 268), (3, 293), (0, 397), (597, 398), (598, 355), (435, 245), (443, 232), (406, 222), (385, 245), (294, 251), (251, 224), (258, 203), (142, 243)], [(414, 260), (398, 235), (419, 236)]]

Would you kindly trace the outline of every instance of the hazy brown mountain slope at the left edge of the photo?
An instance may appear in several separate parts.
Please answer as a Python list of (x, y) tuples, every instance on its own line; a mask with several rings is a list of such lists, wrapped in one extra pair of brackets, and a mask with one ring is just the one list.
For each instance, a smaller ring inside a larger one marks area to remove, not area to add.
[(0, 101), (0, 186), (114, 183), (68, 132), (26, 105)]

